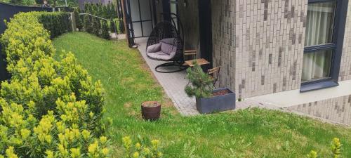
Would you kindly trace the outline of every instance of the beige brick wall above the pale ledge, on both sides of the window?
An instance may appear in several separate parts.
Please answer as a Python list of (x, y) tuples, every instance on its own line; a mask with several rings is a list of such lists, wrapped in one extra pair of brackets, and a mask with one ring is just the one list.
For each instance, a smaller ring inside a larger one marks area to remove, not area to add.
[[(300, 88), (307, 0), (212, 1), (213, 65), (239, 98)], [(351, 6), (351, 3), (349, 4)], [(351, 9), (340, 81), (351, 79)]]

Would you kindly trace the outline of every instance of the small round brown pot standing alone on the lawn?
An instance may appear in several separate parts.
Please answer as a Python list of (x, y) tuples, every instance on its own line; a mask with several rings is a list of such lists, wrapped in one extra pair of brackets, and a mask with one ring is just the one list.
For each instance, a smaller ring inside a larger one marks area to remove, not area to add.
[(156, 121), (161, 114), (161, 104), (156, 101), (144, 102), (141, 105), (141, 114), (145, 120)]

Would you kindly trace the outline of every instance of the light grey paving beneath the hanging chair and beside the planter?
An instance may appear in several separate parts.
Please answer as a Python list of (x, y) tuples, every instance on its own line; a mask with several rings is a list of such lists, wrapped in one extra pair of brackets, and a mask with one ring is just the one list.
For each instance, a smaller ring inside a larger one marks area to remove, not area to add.
[[(195, 98), (188, 97), (184, 91), (184, 88), (188, 83), (188, 80), (184, 78), (185, 71), (171, 74), (156, 72), (154, 67), (164, 62), (147, 58), (145, 53), (147, 38), (135, 39), (135, 43), (138, 45), (138, 49), (141, 55), (143, 55), (147, 65), (149, 65), (150, 69), (152, 70), (152, 73), (154, 73), (154, 76), (159, 81), (159, 84), (161, 84), (161, 86), (164, 88), (167, 96), (171, 98), (178, 111), (185, 116), (199, 114), (196, 109)], [(255, 99), (247, 99), (243, 102), (237, 102), (237, 110), (249, 107), (263, 107), (274, 110), (279, 109), (279, 107), (276, 105), (260, 102), (259, 100)]]

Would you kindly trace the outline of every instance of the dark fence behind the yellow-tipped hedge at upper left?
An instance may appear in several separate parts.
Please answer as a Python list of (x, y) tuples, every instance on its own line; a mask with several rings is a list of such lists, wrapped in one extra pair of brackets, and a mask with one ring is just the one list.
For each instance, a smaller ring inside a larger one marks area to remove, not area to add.
[[(29, 12), (29, 11), (53, 11), (53, 8), (42, 8), (35, 6), (15, 6), (11, 4), (4, 4), (0, 2), (0, 34), (4, 33), (6, 25), (4, 20), (10, 20), (13, 18), (13, 15), (20, 12)], [(0, 46), (0, 50), (1, 46)], [(0, 81), (9, 79), (10, 75), (6, 71), (6, 61), (4, 58), (4, 53), (0, 55)]]

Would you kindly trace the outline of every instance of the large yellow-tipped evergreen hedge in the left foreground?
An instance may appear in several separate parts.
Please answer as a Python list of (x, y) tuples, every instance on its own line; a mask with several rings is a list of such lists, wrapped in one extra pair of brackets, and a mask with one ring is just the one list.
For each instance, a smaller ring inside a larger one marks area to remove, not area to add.
[(60, 20), (65, 13), (31, 12), (6, 22), (0, 42), (12, 77), (1, 83), (0, 157), (109, 155), (100, 81), (72, 53), (53, 58), (50, 37), (67, 30), (53, 27)]

